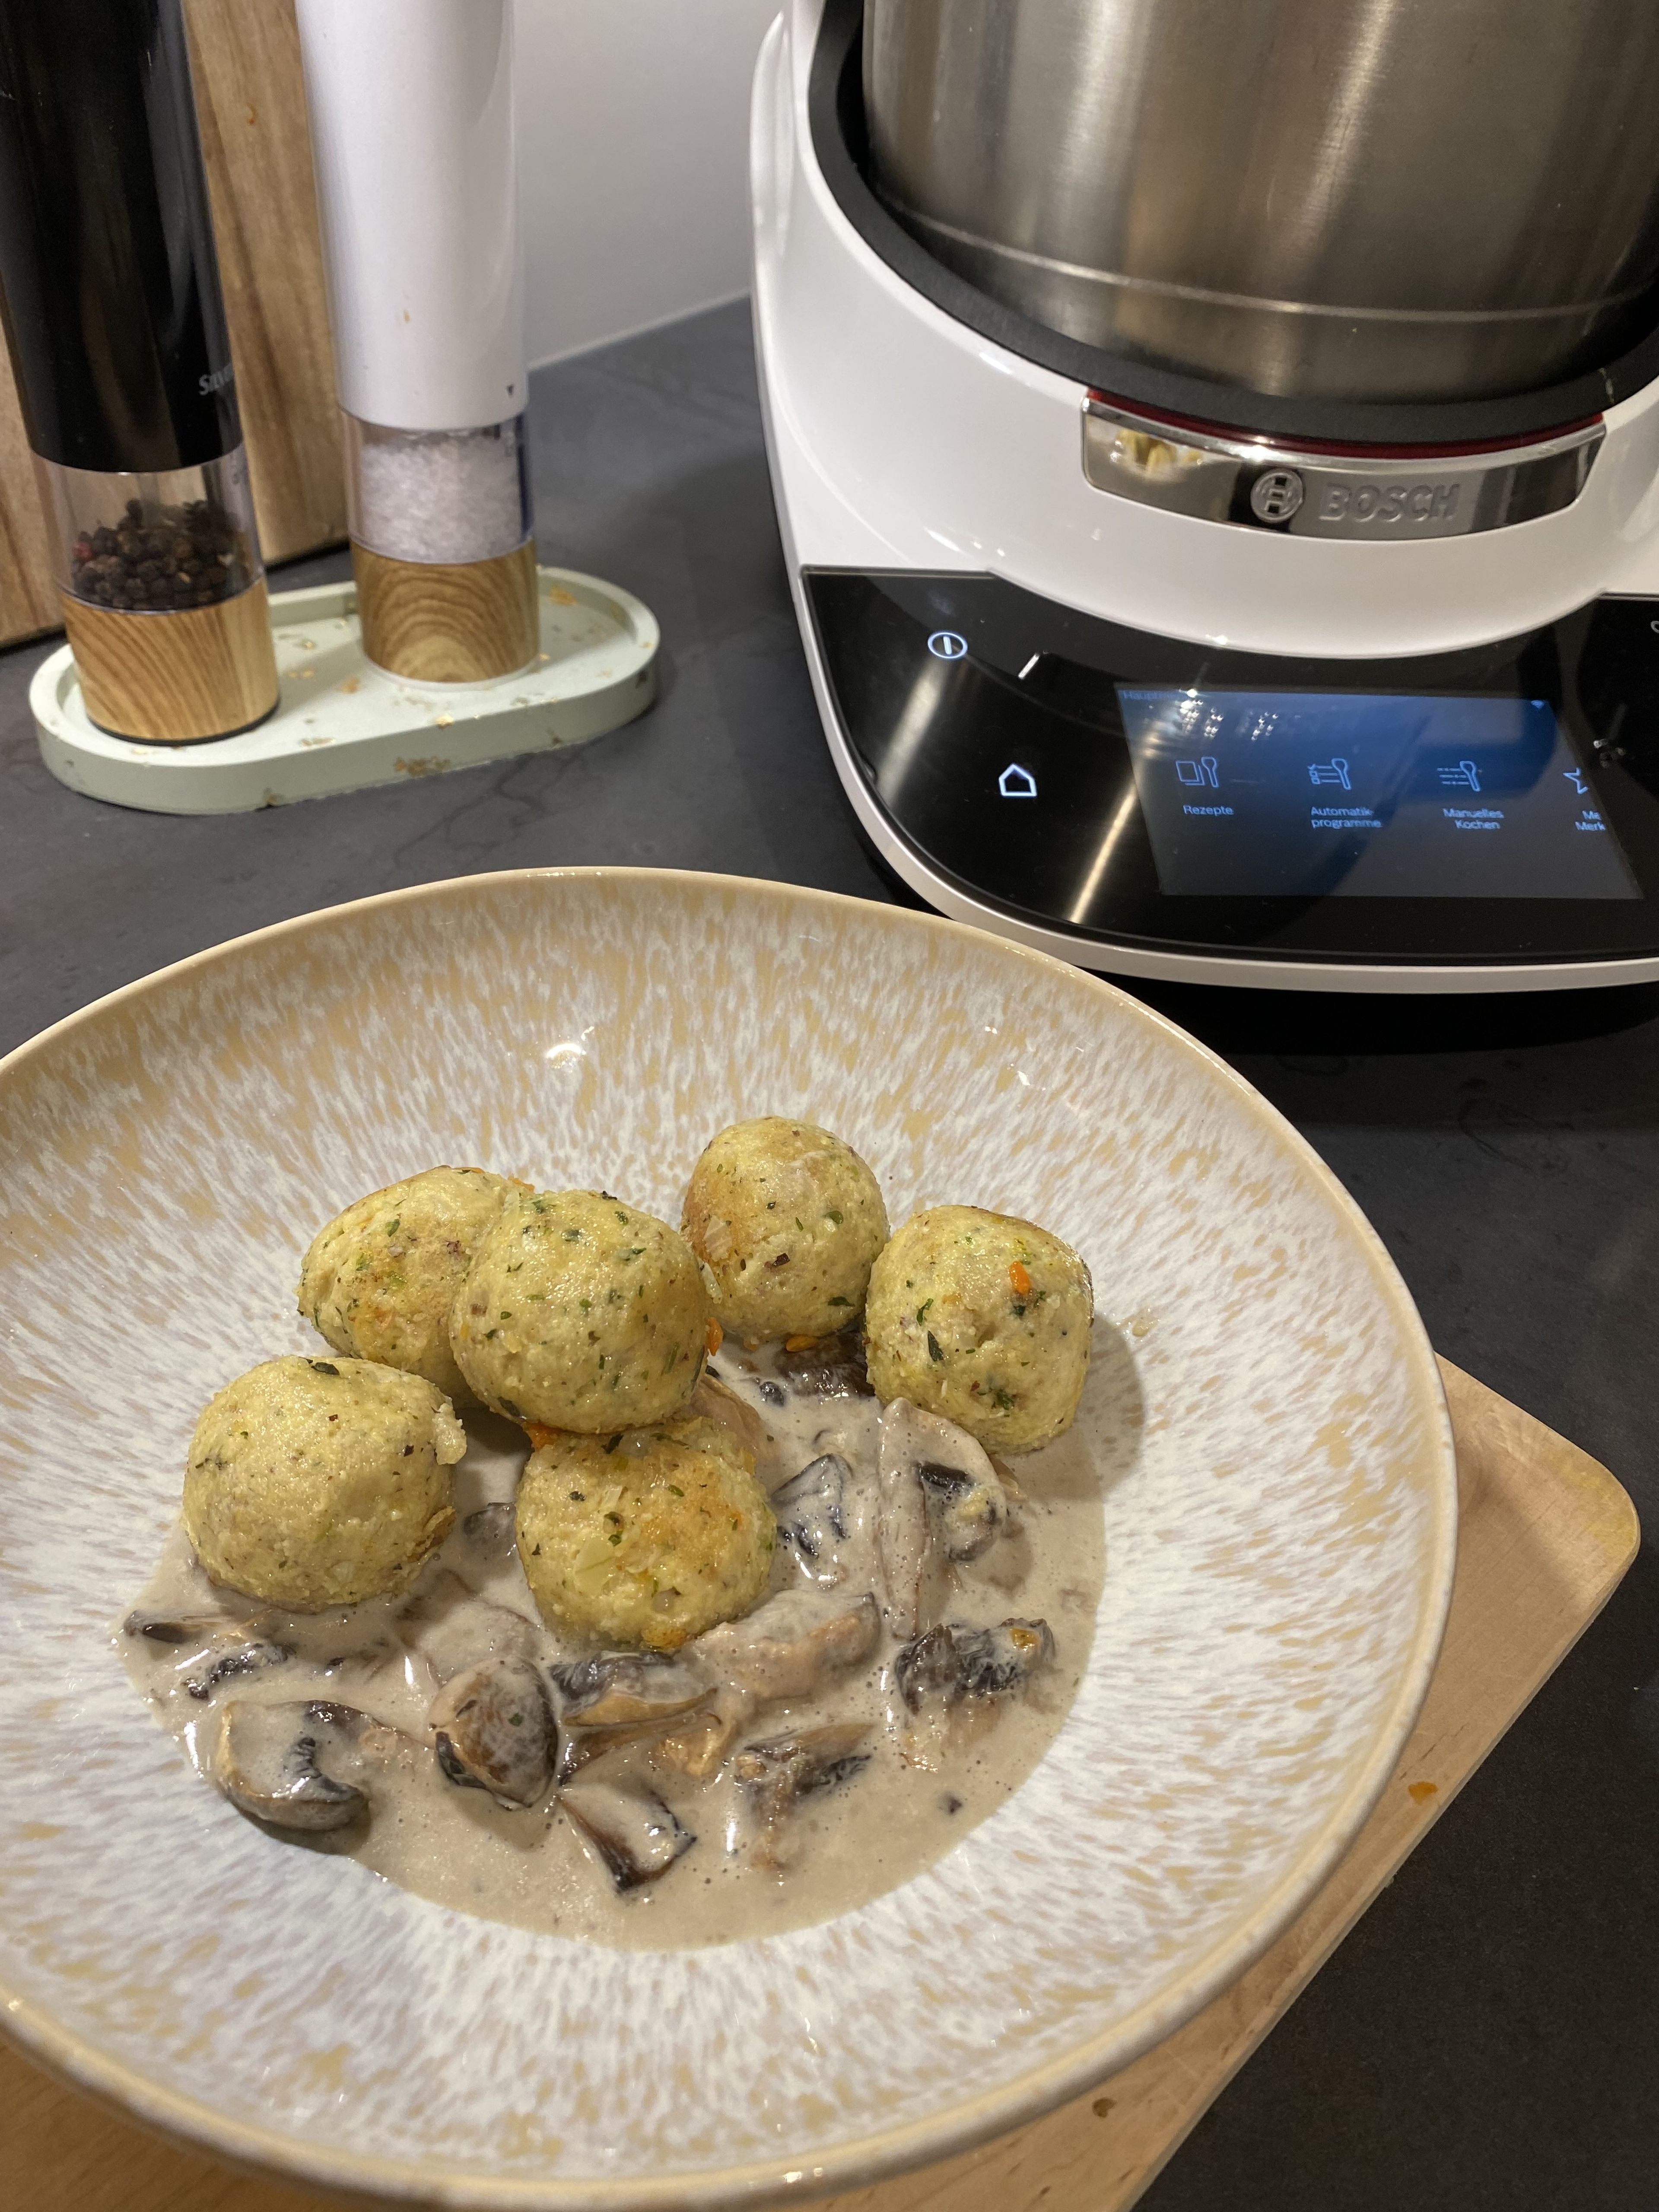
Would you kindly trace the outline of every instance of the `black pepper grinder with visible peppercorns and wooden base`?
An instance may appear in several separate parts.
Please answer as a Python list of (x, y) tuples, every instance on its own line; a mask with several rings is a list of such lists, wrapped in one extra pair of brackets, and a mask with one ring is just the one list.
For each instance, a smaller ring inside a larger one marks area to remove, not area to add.
[(9, 0), (0, 310), (88, 717), (276, 706), (181, 0)]

